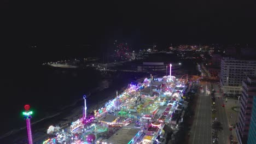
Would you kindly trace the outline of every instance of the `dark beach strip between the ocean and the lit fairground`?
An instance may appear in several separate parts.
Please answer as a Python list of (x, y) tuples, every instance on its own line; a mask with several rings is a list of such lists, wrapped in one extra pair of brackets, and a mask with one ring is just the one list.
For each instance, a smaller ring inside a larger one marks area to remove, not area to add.
[[(138, 80), (142, 79), (142, 77), (144, 77), (146, 75), (147, 74), (143, 74), (143, 76), (139, 76)], [(112, 85), (108, 88), (103, 89), (102, 91), (95, 91), (94, 93), (92, 93), (90, 95), (89, 99), (91, 99), (93, 97), (96, 97), (98, 99), (97, 99), (97, 101), (93, 100), (93, 101), (91, 101), (92, 103), (89, 103), (88, 113), (91, 113), (95, 109), (102, 107), (108, 100), (115, 98), (116, 91), (114, 89), (118, 89), (118, 93), (123, 92), (124, 88), (127, 87), (126, 81), (122, 82), (122, 84), (123, 84), (122, 86)], [(119, 86), (119, 87), (117, 88), (117, 86)], [(104, 97), (101, 97), (102, 93), (104, 93), (104, 95), (105, 95)], [(54, 125), (54, 126), (59, 125), (60, 127), (63, 127), (65, 125), (66, 126), (70, 125), (71, 122), (73, 122), (83, 116), (82, 106), (83, 106), (83, 99), (81, 98), (81, 99), (77, 100), (74, 105), (66, 107), (65, 109), (63, 109), (51, 116), (48, 116), (46, 118), (42, 118), (36, 122), (33, 122), (32, 123), (33, 133), (34, 134), (37, 134), (37, 133), (43, 134), (44, 133), (45, 136), (49, 136), (48, 134), (46, 134), (46, 131), (50, 125)], [(19, 140), (27, 139), (26, 127), (16, 129), (16, 131), (14, 131), (14, 132), (13, 131), (14, 130), (11, 130), (11, 131), (5, 133), (5, 135), (7, 135), (7, 136), (2, 135), (0, 141), (1, 142), (4, 141), (6, 143), (6, 142), (10, 142), (10, 141), (19, 141)], [(36, 138), (36, 137), (33, 137), (33, 138)]]

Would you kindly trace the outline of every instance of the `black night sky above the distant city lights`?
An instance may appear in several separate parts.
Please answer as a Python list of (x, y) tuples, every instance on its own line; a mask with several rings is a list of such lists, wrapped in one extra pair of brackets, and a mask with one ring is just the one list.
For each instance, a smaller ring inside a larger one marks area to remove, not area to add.
[[(91, 44), (99, 51), (125, 40), (134, 49), (157, 44), (255, 43), (253, 1), (0, 2), (2, 50), (6, 58), (50, 61)], [(39, 47), (31, 49), (29, 45)], [(5, 57), (4, 57), (5, 58)]]

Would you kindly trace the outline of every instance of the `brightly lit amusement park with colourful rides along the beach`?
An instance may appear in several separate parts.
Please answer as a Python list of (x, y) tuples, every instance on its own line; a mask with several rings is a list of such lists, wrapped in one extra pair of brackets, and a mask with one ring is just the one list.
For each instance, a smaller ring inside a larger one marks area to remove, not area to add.
[[(188, 105), (184, 96), (188, 75), (177, 79), (170, 74), (131, 82), (122, 93), (107, 101), (93, 113), (87, 113), (86, 95), (83, 95), (83, 117), (68, 127), (51, 125), (51, 143), (165, 143), (168, 127), (176, 129)], [(187, 79), (182, 79), (187, 76)], [(30, 106), (25, 105), (28, 142), (33, 143)]]

